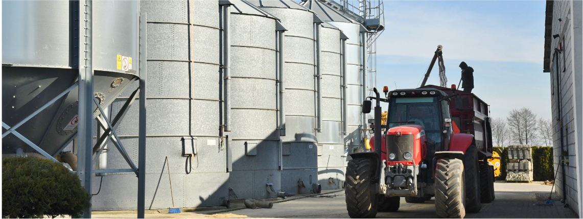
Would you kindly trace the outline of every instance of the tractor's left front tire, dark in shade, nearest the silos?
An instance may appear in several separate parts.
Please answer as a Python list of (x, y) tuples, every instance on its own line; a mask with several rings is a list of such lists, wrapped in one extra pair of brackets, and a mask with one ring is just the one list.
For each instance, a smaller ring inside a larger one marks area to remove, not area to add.
[(373, 162), (368, 158), (356, 158), (346, 168), (346, 209), (351, 218), (374, 218), (377, 216), (377, 194)]

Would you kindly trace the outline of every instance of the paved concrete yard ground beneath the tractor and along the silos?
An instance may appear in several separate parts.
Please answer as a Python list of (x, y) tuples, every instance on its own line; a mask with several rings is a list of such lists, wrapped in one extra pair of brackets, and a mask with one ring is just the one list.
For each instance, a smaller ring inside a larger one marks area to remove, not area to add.
[[(556, 202), (545, 204), (551, 186), (542, 182), (494, 183), (496, 200), (483, 203), (476, 214), (466, 214), (466, 218), (578, 218), (568, 208), (564, 208), (559, 197)], [(343, 190), (326, 191), (317, 196), (294, 196), (279, 200), (272, 209), (246, 209), (241, 201), (235, 201), (230, 209), (189, 211), (179, 214), (146, 212), (146, 218), (349, 218)], [(554, 192), (553, 192), (554, 193)], [(283, 201), (283, 202), (282, 202)], [(422, 204), (406, 203), (401, 198), (399, 211), (379, 212), (377, 218), (436, 218), (434, 200)], [(185, 209), (187, 210), (187, 209)], [(135, 212), (94, 212), (93, 218), (136, 218)]]

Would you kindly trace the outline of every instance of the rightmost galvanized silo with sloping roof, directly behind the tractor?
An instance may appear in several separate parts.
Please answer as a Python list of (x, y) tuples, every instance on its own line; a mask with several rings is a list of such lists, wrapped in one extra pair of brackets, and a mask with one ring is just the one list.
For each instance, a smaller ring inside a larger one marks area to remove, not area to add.
[(366, 125), (363, 114), (361, 113), (361, 104), (363, 101), (363, 46), (366, 44), (362, 41), (362, 34), (366, 36), (366, 28), (359, 22), (356, 22), (337, 10), (326, 6), (324, 3), (308, 0), (302, 4), (313, 10), (323, 20), (342, 30), (348, 39), (346, 40), (346, 132), (344, 142), (347, 146), (347, 152), (350, 154), (361, 143), (361, 128)]

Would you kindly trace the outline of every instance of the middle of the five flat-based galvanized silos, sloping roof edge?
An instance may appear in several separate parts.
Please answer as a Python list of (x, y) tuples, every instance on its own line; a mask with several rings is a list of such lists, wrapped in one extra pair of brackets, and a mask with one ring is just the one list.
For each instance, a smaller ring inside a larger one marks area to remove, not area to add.
[(318, 181), (314, 13), (291, 0), (249, 2), (281, 19), (287, 29), (281, 189), (310, 193)]

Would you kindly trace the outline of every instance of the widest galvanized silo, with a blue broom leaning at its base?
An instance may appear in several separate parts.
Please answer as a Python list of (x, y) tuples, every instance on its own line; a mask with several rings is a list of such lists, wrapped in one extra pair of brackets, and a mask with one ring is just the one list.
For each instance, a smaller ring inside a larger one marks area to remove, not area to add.
[[(229, 174), (219, 139), (219, 3), (141, 1), (141, 8), (147, 13), (149, 70), (146, 209), (173, 205), (168, 163), (175, 207), (220, 205), (229, 196)], [(122, 96), (111, 105), (114, 115), (129, 93)], [(128, 113), (118, 128), (132, 158), (138, 149), (134, 115)], [(108, 164), (126, 165), (117, 153), (109, 154)], [(135, 209), (135, 182), (133, 173), (104, 176), (100, 194), (93, 196), (93, 210)]]

